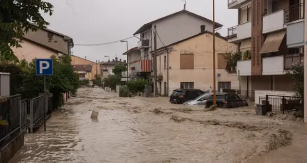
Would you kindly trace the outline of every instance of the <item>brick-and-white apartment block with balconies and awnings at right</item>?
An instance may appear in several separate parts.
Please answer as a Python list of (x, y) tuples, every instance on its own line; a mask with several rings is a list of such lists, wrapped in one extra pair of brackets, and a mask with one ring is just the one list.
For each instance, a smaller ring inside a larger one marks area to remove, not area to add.
[(228, 29), (228, 41), (237, 43), (250, 58), (237, 62), (241, 89), (259, 96), (293, 95), (286, 75), (293, 64), (303, 64), (303, 0), (227, 0), (228, 9), (238, 10), (238, 26)]

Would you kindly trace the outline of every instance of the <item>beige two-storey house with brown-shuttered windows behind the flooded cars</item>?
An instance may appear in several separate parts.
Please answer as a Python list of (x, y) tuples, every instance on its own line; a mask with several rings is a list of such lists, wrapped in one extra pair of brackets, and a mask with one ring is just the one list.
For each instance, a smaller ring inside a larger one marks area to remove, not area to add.
[[(213, 89), (212, 32), (205, 31), (157, 49), (158, 93), (170, 95), (173, 89)], [(238, 76), (225, 72), (223, 55), (235, 51), (236, 44), (216, 36), (217, 89), (239, 89)], [(169, 62), (168, 62), (169, 61)]]

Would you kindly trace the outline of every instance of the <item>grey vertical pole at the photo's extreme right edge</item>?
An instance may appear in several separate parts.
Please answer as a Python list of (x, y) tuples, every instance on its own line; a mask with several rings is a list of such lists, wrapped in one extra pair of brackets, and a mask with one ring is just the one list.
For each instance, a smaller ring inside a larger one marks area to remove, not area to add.
[(307, 0), (304, 3), (304, 17), (305, 17), (305, 28), (304, 28), (304, 122), (307, 123)]

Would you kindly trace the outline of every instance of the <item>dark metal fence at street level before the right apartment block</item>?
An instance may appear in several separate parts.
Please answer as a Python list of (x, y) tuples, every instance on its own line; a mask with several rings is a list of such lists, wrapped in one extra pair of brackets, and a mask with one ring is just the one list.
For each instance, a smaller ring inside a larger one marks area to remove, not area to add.
[(272, 111), (275, 113), (294, 114), (296, 117), (304, 116), (304, 105), (299, 97), (266, 95), (259, 97), (258, 104), (272, 105)]

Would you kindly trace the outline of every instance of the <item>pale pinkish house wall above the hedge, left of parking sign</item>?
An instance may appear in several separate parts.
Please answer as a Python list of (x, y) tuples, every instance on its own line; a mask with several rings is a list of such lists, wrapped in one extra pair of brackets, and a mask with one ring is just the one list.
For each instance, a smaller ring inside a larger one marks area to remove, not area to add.
[(15, 56), (19, 59), (25, 59), (31, 62), (34, 58), (49, 59), (51, 56), (58, 57), (58, 53), (47, 48), (34, 44), (32, 42), (23, 40), (20, 48), (12, 47)]

